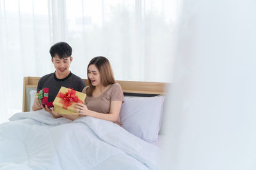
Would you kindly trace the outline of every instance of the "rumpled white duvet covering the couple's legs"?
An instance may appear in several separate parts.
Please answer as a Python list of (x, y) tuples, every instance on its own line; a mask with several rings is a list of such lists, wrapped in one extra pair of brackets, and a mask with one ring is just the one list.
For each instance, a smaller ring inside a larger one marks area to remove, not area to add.
[(44, 110), (0, 125), (0, 169), (158, 169), (159, 148), (106, 120)]

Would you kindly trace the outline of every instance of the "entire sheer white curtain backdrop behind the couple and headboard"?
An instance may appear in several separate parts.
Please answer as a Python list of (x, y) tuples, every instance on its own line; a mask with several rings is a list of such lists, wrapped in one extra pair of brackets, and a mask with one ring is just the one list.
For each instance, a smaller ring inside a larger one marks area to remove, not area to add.
[(24, 76), (54, 71), (58, 41), (72, 46), (71, 71), (82, 78), (103, 55), (116, 80), (170, 81), (176, 1), (0, 0), (0, 122), (21, 111)]

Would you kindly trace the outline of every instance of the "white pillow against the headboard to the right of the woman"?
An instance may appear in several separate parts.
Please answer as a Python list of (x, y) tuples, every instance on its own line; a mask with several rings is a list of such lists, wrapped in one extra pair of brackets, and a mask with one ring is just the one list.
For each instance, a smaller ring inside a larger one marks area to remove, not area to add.
[(125, 96), (124, 101), (120, 110), (122, 127), (145, 141), (157, 141), (161, 128), (164, 96)]

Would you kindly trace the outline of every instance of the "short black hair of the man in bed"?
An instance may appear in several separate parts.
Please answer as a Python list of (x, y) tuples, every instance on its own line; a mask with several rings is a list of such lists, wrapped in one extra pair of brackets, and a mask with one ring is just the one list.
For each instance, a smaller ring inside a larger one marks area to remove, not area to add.
[(52, 45), (51, 49), (50, 49), (50, 53), (52, 58), (58, 54), (60, 59), (64, 59), (67, 57), (71, 57), (72, 55), (72, 48), (70, 45), (68, 45), (68, 43), (65, 42), (59, 42), (56, 43), (54, 45)]

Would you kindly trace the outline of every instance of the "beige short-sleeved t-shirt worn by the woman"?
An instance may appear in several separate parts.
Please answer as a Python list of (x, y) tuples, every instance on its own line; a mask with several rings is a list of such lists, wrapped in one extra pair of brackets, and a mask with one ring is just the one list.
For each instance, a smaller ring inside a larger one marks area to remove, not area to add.
[[(83, 93), (85, 93), (86, 88), (87, 87), (84, 87)], [(110, 85), (109, 89), (102, 92), (102, 94), (100, 94), (98, 97), (86, 96), (84, 103), (86, 104), (88, 110), (108, 114), (110, 111), (111, 101), (124, 102), (122, 87), (118, 83)], [(115, 123), (122, 125), (120, 122), (120, 116)]]

